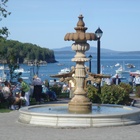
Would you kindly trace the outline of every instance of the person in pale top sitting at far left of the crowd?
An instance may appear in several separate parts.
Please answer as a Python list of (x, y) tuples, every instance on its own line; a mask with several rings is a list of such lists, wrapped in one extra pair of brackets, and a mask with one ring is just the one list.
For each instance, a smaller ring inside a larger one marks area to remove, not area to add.
[(11, 84), (8, 81), (4, 82), (2, 93), (5, 100), (8, 101), (8, 107), (11, 110), (15, 110), (15, 105), (18, 105), (18, 109), (21, 107), (21, 99), (19, 97), (13, 96), (12, 91), (11, 91)]

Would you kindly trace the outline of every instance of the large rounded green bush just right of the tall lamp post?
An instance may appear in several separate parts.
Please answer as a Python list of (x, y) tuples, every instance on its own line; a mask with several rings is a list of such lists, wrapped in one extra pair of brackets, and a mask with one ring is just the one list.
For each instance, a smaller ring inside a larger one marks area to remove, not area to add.
[(104, 85), (101, 88), (100, 98), (103, 104), (129, 104), (129, 93), (117, 85)]

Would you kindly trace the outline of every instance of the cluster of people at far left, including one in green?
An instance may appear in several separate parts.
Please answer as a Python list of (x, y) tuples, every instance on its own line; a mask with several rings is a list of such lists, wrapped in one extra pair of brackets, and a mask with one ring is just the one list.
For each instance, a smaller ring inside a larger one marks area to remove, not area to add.
[(12, 85), (9, 81), (1, 84), (0, 92), (3, 101), (11, 110), (19, 109), (23, 103), (25, 106), (30, 105), (30, 86), (22, 78), (18, 79), (17, 85)]

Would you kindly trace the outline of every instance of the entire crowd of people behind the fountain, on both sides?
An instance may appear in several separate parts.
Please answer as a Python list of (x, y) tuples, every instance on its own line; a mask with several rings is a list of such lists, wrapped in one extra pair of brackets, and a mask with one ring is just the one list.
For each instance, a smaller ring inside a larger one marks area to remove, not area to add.
[[(131, 86), (140, 86), (140, 75), (130, 75), (128, 81)], [(115, 78), (105, 78), (104, 83), (107, 85), (119, 85), (121, 79), (116, 74)], [(51, 87), (53, 86), (60, 86), (62, 93), (69, 93), (69, 98), (74, 96), (75, 84), (72, 80), (68, 83), (63, 83), (63, 85), (58, 85), (56, 79), (54, 79), (53, 84), (51, 84)], [(33, 90), (31, 90), (31, 87), (33, 87)], [(0, 87), (0, 91), (3, 94), (4, 100), (8, 102), (9, 109), (12, 110), (19, 109), (23, 103), (25, 106), (29, 106), (30, 97), (34, 98), (37, 104), (41, 103), (42, 95), (46, 95), (51, 101), (57, 100), (57, 94), (50, 89), (48, 80), (42, 81), (37, 75), (33, 77), (31, 85), (26, 83), (22, 78), (18, 79), (17, 85), (11, 85), (10, 82), (5, 81), (3, 86)]]

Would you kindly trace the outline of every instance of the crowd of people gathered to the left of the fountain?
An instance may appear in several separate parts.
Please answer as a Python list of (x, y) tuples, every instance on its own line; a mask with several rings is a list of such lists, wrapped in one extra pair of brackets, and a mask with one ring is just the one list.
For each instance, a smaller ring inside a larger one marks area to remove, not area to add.
[[(54, 84), (56, 84), (55, 81)], [(20, 109), (21, 106), (29, 106), (30, 98), (34, 98), (36, 103), (40, 104), (43, 94), (46, 94), (52, 101), (57, 100), (56, 93), (51, 91), (49, 85), (37, 75), (33, 77), (31, 84), (26, 83), (22, 78), (18, 78), (18, 82), (15, 85), (5, 81), (1, 83), (0, 93), (1, 98), (8, 103), (8, 108), (11, 110)]]

